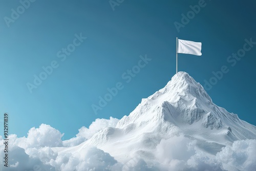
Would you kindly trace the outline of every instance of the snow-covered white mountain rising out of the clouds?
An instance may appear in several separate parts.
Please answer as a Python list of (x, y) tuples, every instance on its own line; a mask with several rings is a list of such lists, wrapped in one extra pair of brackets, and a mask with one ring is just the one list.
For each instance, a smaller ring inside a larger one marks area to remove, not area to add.
[(234, 141), (256, 139), (256, 126), (214, 104), (198, 82), (179, 72), (163, 89), (142, 99), (115, 127), (106, 127), (78, 146), (54, 151), (74, 154), (93, 145), (121, 163), (139, 156), (154, 165), (160, 142), (179, 136), (211, 156)]

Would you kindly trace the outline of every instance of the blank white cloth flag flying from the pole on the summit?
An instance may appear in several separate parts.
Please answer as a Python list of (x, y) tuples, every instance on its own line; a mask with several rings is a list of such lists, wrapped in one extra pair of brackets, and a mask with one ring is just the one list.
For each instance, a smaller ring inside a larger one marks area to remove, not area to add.
[(178, 53), (186, 53), (201, 56), (202, 43), (188, 40), (179, 40)]

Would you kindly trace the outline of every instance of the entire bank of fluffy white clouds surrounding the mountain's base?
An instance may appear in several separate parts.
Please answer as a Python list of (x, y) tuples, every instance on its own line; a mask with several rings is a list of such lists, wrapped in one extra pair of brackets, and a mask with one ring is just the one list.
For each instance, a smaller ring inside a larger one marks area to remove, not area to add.
[[(146, 153), (134, 153), (126, 156), (124, 163), (94, 146), (80, 146), (77, 151), (74, 145), (106, 127), (115, 127), (117, 122), (115, 118), (96, 119), (89, 128), (79, 129), (77, 137), (63, 142), (63, 134), (46, 124), (30, 129), (27, 138), (10, 135), (8, 170), (256, 170), (256, 140), (234, 141), (212, 155), (199, 149), (196, 140), (174, 136), (159, 140), (152, 151), (154, 157), (143, 158), (139, 154)], [(4, 155), (3, 143), (0, 136), (0, 156)], [(65, 148), (65, 145), (74, 147)], [(0, 164), (4, 164), (2, 160)]]

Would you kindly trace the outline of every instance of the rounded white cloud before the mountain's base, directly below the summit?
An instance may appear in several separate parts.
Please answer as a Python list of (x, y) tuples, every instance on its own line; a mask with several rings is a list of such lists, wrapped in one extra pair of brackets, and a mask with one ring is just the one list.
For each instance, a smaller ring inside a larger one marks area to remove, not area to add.
[(161, 170), (223, 170), (214, 158), (197, 149), (196, 143), (183, 135), (162, 139), (155, 151)]

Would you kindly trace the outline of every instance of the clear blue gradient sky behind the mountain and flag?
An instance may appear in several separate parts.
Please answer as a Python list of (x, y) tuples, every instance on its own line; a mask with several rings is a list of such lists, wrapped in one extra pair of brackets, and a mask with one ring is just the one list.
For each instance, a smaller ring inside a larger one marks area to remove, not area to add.
[[(198, 4), (203, 6), (200, 11), (189, 13), (190, 6)], [(112, 7), (98, 0), (35, 1), (25, 3), (27, 9), (21, 5), (4, 1), (0, 6), (0, 113), (9, 113), (10, 133), (26, 136), (31, 127), (46, 123), (65, 133), (65, 140), (96, 118), (129, 115), (175, 74), (176, 37), (202, 42), (202, 56), (179, 54), (179, 71), (204, 86), (205, 80), (215, 79), (212, 72), (226, 66), (228, 72), (207, 93), (217, 105), (256, 125), (256, 45), (239, 60), (229, 57), (244, 48), (245, 39), (256, 42), (255, 2), (124, 0)], [(19, 10), (19, 16), (12, 9)], [(182, 24), (182, 14), (191, 15), (178, 32), (174, 23)], [(72, 52), (65, 52), (68, 48)], [(140, 62), (140, 71), (137, 68), (134, 77), (127, 78), (127, 70), (145, 55), (147, 63)], [(34, 75), (52, 62), (51, 74), (30, 93), (27, 83), (33, 84)], [(118, 82), (120, 90), (96, 115), (92, 105)]]

